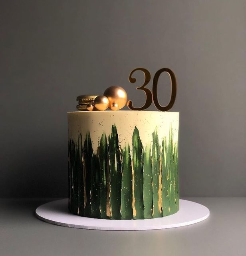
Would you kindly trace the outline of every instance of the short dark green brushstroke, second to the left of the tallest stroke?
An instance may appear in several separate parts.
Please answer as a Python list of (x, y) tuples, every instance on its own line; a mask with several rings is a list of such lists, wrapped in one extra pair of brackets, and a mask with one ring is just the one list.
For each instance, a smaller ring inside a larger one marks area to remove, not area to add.
[(100, 214), (100, 164), (97, 154), (91, 161), (91, 217), (101, 218)]

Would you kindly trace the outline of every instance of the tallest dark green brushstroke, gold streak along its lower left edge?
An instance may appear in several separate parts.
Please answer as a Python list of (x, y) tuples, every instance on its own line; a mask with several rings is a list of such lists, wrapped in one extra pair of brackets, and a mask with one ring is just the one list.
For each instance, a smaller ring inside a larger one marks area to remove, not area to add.
[(110, 163), (110, 205), (111, 218), (121, 219), (121, 153), (116, 126), (112, 126), (109, 136), (109, 163)]

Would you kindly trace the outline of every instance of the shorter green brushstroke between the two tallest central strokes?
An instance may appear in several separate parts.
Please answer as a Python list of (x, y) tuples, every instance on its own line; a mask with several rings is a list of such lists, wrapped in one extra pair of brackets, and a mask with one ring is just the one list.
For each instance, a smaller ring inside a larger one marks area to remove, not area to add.
[(131, 220), (133, 218), (133, 187), (132, 168), (129, 144), (121, 152), (122, 156), (122, 188), (121, 188), (121, 218)]

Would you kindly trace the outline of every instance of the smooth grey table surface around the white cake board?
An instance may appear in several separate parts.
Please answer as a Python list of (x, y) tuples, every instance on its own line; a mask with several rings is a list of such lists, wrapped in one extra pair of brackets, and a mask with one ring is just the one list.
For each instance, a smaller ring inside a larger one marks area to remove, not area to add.
[(0, 255), (246, 256), (246, 198), (184, 198), (207, 206), (207, 220), (166, 230), (66, 228), (35, 217), (54, 199), (0, 199)]

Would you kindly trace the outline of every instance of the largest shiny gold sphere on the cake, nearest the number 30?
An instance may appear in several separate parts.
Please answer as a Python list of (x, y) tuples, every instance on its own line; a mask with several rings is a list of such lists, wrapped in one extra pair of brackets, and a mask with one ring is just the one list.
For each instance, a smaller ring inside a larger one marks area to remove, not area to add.
[[(109, 99), (109, 108), (111, 108), (111, 110), (119, 110), (127, 103), (127, 93), (119, 86), (107, 88), (103, 95)], [(117, 104), (117, 109), (115, 109), (115, 105), (113, 106), (113, 104)]]

